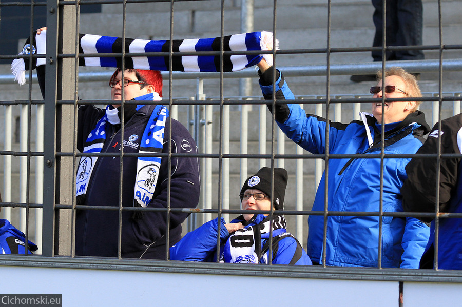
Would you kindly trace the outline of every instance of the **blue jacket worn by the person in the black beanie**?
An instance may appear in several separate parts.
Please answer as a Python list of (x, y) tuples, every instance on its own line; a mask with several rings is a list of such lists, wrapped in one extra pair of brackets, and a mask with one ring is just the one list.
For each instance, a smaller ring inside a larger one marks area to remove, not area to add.
[[(244, 229), (259, 224), (265, 217), (262, 214), (256, 216), (255, 220), (247, 224)], [(237, 218), (231, 223), (243, 222), (243, 219)], [(223, 253), (223, 247), (229, 239), (229, 232), (224, 226), (226, 222), (221, 218), (220, 224), (220, 256)], [(216, 262), (217, 260), (217, 230), (218, 218), (206, 222), (201, 227), (187, 233), (176, 245), (170, 248), (171, 260), (183, 261), (203, 261)], [(274, 231), (273, 237), (277, 234)], [(263, 247), (265, 239), (261, 240)], [(260, 259), (260, 263), (266, 263), (269, 257), (269, 250), (266, 252), (266, 257)], [(273, 264), (296, 264), (296, 265), (311, 265), (310, 258), (306, 255), (296, 238), (286, 236), (273, 244)]]

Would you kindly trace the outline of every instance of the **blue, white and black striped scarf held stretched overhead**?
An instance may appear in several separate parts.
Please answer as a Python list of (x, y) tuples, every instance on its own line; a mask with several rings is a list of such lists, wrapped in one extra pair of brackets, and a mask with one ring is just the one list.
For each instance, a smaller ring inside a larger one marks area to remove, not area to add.
[[(79, 57), (79, 66), (93, 67), (122, 67), (122, 56), (99, 57), (99, 53), (122, 53), (122, 46), (126, 53), (125, 69), (146, 69), (169, 71), (169, 56), (152, 56), (146, 53), (170, 52), (170, 40), (145, 40), (125, 38), (122, 45), (121, 37), (110, 37), (92, 34), (79, 35), (79, 54), (91, 54), (89, 57)], [(278, 40), (275, 42), (278, 49)], [(172, 51), (176, 52), (172, 56), (173, 71), (189, 72), (218, 72), (221, 67), (220, 55), (181, 55), (181, 52), (202, 52), (220, 51), (221, 38), (199, 38), (199, 39), (174, 39), (172, 40)], [(271, 50), (273, 48), (273, 33), (271, 32), (251, 32), (235, 34), (223, 37), (223, 51), (250, 51), (250, 50)], [(180, 52), (180, 53), (178, 53)], [(40, 35), (34, 35), (26, 40), (20, 55), (23, 54), (45, 54), (46, 53), (46, 30)], [(143, 56), (134, 56), (134, 53)], [(238, 71), (246, 67), (251, 67), (265, 58), (269, 65), (273, 65), (271, 54), (233, 54), (223, 55), (223, 71)], [(32, 57), (32, 69), (44, 65), (45, 58)], [(11, 70), (18, 84), (26, 83), (25, 71), (29, 70), (29, 57), (17, 58), (11, 64)]]

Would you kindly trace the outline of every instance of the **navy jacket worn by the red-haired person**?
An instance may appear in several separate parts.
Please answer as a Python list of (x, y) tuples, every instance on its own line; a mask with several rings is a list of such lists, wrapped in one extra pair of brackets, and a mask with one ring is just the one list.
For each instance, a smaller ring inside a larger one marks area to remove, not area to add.
[[(124, 152), (138, 153), (139, 142), (155, 105), (145, 105), (138, 111), (134, 105), (125, 105)], [(94, 129), (105, 110), (85, 105), (79, 108), (77, 148), (83, 151), (88, 134)], [(168, 153), (169, 119), (166, 121), (163, 153)], [(102, 153), (120, 153), (120, 125), (107, 124), (107, 137)], [(130, 135), (140, 137), (128, 142)], [(197, 146), (186, 128), (172, 119), (172, 153), (197, 153)], [(135, 143), (135, 144), (133, 144)], [(196, 157), (171, 158), (170, 208), (195, 208), (199, 202), (199, 162)], [(134, 206), (134, 181), (137, 157), (125, 157), (122, 172), (122, 204)], [(94, 166), (86, 197), (78, 197), (78, 204), (119, 207), (120, 158), (99, 157)], [(167, 207), (168, 158), (162, 157), (159, 179), (148, 208)], [(170, 213), (169, 246), (181, 239), (181, 223), (188, 213)], [(78, 210), (76, 213), (75, 254), (84, 256), (117, 257), (119, 212)], [(121, 256), (128, 258), (165, 259), (166, 212), (133, 214), (122, 212)]]

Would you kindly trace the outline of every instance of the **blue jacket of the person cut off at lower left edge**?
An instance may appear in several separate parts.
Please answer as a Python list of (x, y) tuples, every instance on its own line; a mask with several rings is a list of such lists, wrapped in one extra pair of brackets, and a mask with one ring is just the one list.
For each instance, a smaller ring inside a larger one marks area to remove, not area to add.
[[(2, 202), (2, 195), (0, 195)], [(2, 207), (0, 207), (2, 211)], [(0, 254), (26, 254), (26, 236), (17, 230), (9, 220), (0, 218)], [(38, 250), (37, 245), (27, 241), (27, 254)]]

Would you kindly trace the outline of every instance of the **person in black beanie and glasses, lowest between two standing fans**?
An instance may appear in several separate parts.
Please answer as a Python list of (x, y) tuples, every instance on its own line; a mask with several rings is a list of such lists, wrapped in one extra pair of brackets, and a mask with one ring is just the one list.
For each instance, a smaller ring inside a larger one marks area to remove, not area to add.
[[(248, 210), (227, 224), (223, 218), (214, 219), (187, 233), (170, 248), (171, 260), (217, 260), (217, 236), (220, 232), (220, 261), (228, 263), (268, 263), (270, 225), (273, 227), (273, 264), (311, 265), (298, 240), (286, 231), (284, 195), (287, 171), (274, 169), (274, 197), (271, 201), (272, 169), (264, 167), (245, 180), (239, 197), (242, 209)], [(273, 217), (254, 214), (255, 210), (276, 210)]]

